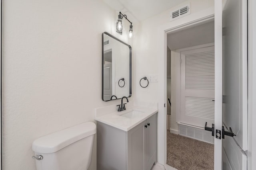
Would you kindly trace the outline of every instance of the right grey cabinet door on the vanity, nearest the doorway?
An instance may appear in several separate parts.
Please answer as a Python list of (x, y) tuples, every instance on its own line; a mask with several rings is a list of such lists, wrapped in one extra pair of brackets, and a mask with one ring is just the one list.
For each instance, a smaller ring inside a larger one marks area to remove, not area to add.
[(150, 170), (156, 162), (156, 141), (157, 141), (157, 114), (152, 115), (146, 121), (145, 129), (145, 150), (144, 170)]

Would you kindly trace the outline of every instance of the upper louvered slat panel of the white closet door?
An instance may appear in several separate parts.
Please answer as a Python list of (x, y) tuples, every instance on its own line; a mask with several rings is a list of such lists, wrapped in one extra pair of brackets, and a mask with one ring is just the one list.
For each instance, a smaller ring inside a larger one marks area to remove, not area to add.
[(214, 90), (214, 51), (185, 56), (185, 88)]

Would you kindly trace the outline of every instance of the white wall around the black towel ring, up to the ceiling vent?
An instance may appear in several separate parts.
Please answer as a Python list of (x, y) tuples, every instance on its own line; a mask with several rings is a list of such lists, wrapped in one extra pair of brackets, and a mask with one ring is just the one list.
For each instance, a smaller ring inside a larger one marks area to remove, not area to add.
[[(148, 74), (158, 74), (157, 54), (157, 30), (159, 25), (170, 22), (170, 11), (176, 9), (183, 4), (190, 2), (190, 15), (214, 6), (214, 0), (189, 0), (169, 10), (166, 10), (152, 18), (142, 21), (134, 26), (133, 46), (134, 46), (134, 93), (137, 100), (157, 101), (158, 83), (151, 82), (147, 88), (141, 88), (139, 81)], [(178, 20), (186, 20), (188, 16), (184, 16)], [(175, 21), (175, 20), (174, 20)]]

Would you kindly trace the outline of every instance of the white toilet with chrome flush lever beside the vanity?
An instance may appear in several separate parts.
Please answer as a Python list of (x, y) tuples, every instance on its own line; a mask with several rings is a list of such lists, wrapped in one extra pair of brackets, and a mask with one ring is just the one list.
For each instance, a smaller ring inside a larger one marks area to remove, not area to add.
[(92, 160), (96, 125), (86, 122), (36, 139), (37, 170), (87, 170)]

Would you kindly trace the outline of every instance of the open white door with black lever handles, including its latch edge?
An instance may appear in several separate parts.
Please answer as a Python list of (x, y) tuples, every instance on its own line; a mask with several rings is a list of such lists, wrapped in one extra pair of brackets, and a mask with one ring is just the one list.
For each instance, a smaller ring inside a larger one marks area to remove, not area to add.
[[(225, 2), (215, 0), (214, 170), (246, 170), (247, 1)], [(222, 125), (237, 136), (216, 138), (216, 131), (223, 132)]]

